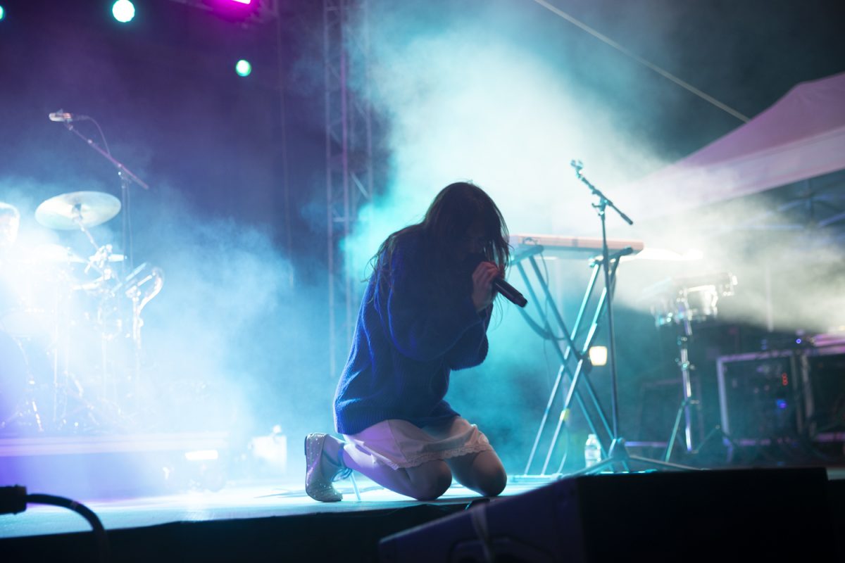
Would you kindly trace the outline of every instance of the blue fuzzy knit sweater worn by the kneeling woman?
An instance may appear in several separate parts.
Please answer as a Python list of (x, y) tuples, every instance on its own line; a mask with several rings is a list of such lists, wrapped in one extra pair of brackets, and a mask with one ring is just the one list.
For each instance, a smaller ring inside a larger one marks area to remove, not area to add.
[(341, 434), (387, 419), (424, 426), (457, 415), (444, 400), (450, 372), (487, 356), (492, 306), (477, 313), (469, 293), (432, 295), (423, 248), (419, 234), (406, 233), (393, 252), (390, 279), (380, 283), (380, 268), (369, 279), (335, 392)]

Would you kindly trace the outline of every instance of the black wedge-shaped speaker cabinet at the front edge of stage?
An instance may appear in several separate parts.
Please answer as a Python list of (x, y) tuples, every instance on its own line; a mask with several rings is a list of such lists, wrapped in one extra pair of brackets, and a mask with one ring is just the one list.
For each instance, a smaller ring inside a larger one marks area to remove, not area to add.
[(395, 561), (833, 560), (824, 468), (599, 474), (383, 539)]

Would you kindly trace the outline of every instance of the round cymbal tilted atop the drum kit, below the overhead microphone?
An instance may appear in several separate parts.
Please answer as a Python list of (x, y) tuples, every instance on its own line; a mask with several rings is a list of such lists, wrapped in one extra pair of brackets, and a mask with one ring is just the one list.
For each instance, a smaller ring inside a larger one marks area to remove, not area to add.
[(120, 200), (106, 192), (69, 192), (47, 199), (35, 220), (50, 229), (75, 230), (101, 225), (120, 212)]

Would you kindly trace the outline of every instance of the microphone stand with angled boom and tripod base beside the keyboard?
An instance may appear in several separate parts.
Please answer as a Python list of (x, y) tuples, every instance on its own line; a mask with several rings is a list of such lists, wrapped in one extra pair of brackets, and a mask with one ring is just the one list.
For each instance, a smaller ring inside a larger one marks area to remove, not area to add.
[[(598, 436), (599, 442), (602, 445), (602, 454), (606, 452), (607, 457), (603, 459), (599, 463), (595, 463), (588, 468), (584, 468), (581, 471), (575, 471), (574, 473), (570, 474), (570, 476), (581, 475), (581, 474), (593, 474), (599, 473), (605, 468), (612, 468), (616, 470), (616, 468), (621, 467), (624, 471), (630, 471), (630, 463), (631, 462), (638, 462), (644, 463), (646, 465), (651, 465), (652, 467), (657, 468), (667, 468), (667, 469), (695, 469), (689, 466), (680, 465), (678, 463), (668, 463), (662, 462), (656, 459), (649, 459), (647, 457), (639, 457), (639, 456), (632, 456), (628, 452), (627, 447), (625, 446), (625, 439), (622, 436), (619, 430), (619, 398), (618, 398), (618, 377), (616, 371), (616, 345), (615, 345), (615, 337), (613, 333), (613, 278), (615, 278), (615, 268), (613, 268), (613, 273), (611, 272), (611, 263), (610, 263), (610, 252), (608, 251), (608, 230), (607, 230), (607, 208), (612, 208), (619, 214), (628, 225), (633, 225), (634, 221), (628, 217), (628, 215), (624, 214), (622, 210), (620, 210), (616, 205), (607, 197), (601, 190), (597, 187), (593, 186), (592, 183), (587, 180), (586, 176), (583, 174), (584, 165), (581, 163), (580, 160), (573, 160), (570, 165), (575, 169), (575, 176), (583, 183), (586, 187), (590, 189), (592, 194), (596, 196), (597, 200), (595, 203), (592, 204), (592, 207), (596, 210), (598, 214), (598, 218), (602, 224), (602, 272), (604, 273), (604, 287), (607, 290), (604, 293), (605, 296), (605, 315), (608, 319), (608, 366), (610, 368), (610, 400), (611, 400), (611, 414), (613, 420), (613, 430), (609, 434), (608, 439), (610, 440), (610, 447), (605, 450), (605, 443), (602, 441), (602, 436)], [(573, 381), (573, 386), (577, 382)]]

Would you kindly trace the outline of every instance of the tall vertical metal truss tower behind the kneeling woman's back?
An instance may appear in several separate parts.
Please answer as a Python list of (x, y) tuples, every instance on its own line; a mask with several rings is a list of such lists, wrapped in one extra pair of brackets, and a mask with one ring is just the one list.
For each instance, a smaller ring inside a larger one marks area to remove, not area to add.
[(359, 295), (341, 241), (373, 192), (367, 0), (324, 0), (325, 158), (329, 372), (338, 376), (352, 341)]

